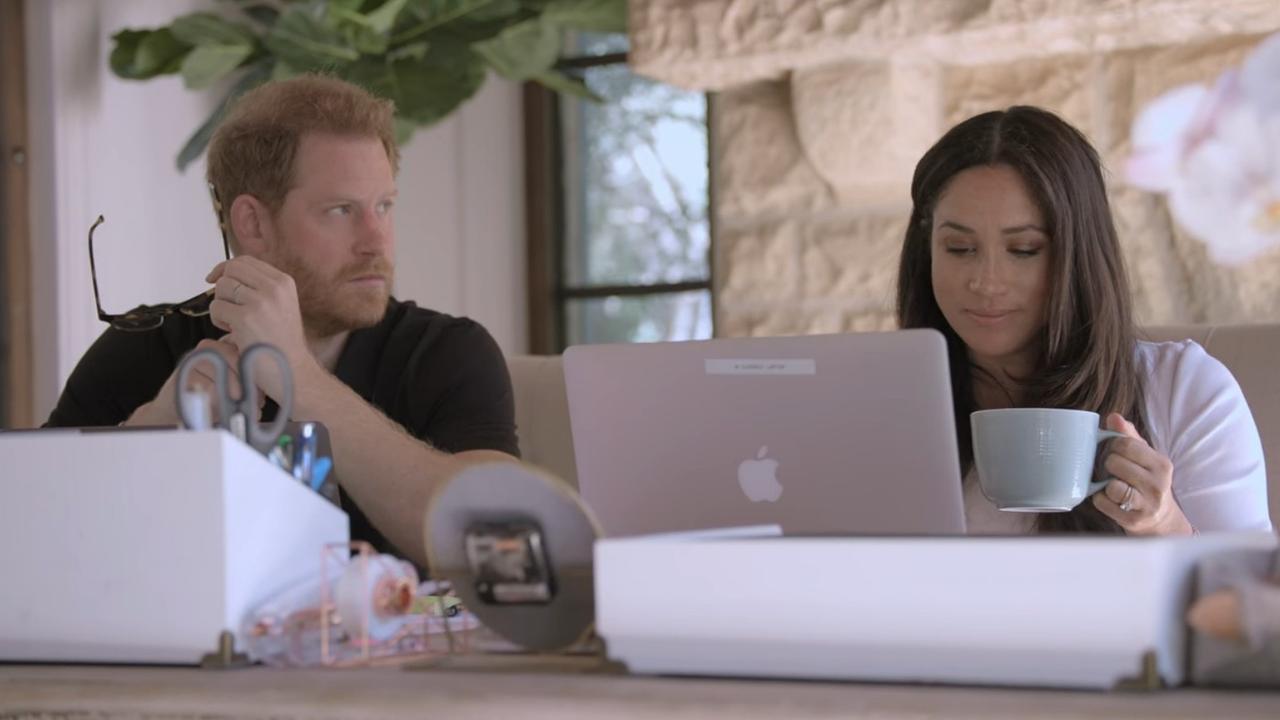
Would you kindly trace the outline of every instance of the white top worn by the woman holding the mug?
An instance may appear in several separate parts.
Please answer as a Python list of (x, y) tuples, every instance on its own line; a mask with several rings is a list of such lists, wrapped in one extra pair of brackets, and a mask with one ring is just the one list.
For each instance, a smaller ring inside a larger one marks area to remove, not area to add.
[[(1262, 439), (1231, 372), (1199, 343), (1138, 341), (1147, 373), (1147, 433), (1174, 464), (1174, 497), (1199, 532), (1270, 530)], [(1087, 501), (1088, 502), (1088, 501)], [(1001, 512), (964, 480), (965, 525), (973, 534), (1027, 534), (1036, 515)]]

